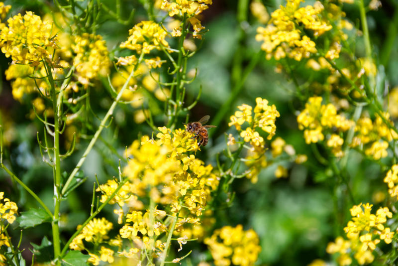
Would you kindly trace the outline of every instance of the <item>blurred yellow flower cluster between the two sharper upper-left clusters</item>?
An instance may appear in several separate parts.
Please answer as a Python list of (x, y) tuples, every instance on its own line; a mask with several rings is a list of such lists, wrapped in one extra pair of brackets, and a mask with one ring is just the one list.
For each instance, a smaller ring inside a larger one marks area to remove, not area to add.
[(71, 48), (76, 54), (73, 58), (76, 75), (84, 87), (89, 85), (91, 79), (108, 74), (109, 52), (100, 35), (83, 33), (75, 36)]

